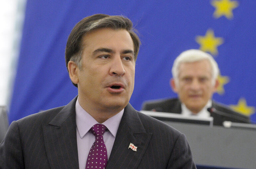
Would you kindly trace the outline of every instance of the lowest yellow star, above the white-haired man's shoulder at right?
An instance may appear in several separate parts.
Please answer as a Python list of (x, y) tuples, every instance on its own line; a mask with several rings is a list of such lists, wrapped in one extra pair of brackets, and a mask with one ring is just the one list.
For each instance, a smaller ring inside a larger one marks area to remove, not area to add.
[(242, 113), (244, 115), (251, 115), (255, 112), (254, 107), (247, 106), (246, 100), (244, 98), (239, 99), (237, 105), (230, 105), (230, 107), (236, 112)]

